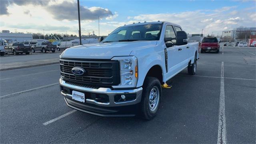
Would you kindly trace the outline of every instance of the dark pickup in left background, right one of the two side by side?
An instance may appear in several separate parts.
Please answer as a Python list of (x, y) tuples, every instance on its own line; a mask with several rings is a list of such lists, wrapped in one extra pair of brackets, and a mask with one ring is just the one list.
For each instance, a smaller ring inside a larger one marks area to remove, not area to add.
[(50, 42), (38, 42), (36, 45), (32, 46), (32, 52), (40, 51), (45, 53), (47, 51), (55, 52), (56, 45), (51, 44)]

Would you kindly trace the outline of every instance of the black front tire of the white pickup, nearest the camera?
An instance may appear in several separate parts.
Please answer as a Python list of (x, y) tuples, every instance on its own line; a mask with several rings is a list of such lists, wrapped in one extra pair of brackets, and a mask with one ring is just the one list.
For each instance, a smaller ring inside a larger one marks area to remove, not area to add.
[[(158, 108), (160, 106), (160, 101), (162, 97), (162, 88), (160, 81), (157, 78), (154, 77), (146, 77), (144, 84), (143, 84), (143, 91), (142, 91), (142, 100), (141, 100), (141, 105), (140, 105), (140, 112), (142, 118), (146, 120), (151, 120), (156, 116)], [(152, 91), (153, 90), (153, 91)], [(151, 96), (151, 92), (154, 92), (154, 90), (157, 93), (157, 96)], [(151, 103), (150, 105), (150, 100), (156, 100), (154, 102), (156, 105), (154, 107), (153, 104)]]

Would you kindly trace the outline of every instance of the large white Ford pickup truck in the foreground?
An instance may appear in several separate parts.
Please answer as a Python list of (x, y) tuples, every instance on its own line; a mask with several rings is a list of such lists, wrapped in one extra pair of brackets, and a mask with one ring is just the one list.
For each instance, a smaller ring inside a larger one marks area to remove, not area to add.
[(170, 22), (117, 28), (97, 44), (60, 55), (60, 91), (66, 104), (99, 116), (156, 116), (162, 87), (180, 71), (196, 73), (198, 42)]

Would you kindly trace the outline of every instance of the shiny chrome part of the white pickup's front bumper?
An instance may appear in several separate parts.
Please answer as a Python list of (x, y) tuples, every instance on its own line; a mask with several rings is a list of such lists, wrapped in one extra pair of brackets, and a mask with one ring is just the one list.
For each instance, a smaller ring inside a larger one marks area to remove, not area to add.
[[(71, 84), (67, 84), (64, 80), (60, 78), (60, 86), (70, 88), (73, 90), (78, 90), (80, 92), (91, 92), (91, 93), (96, 93), (96, 94), (106, 94), (108, 95), (109, 102), (108, 103), (102, 103), (102, 102), (97, 102), (95, 100), (91, 99), (86, 99), (85, 103), (89, 104), (95, 104), (97, 106), (109, 106), (109, 107), (114, 107), (114, 106), (128, 106), (128, 105), (133, 105), (133, 104), (138, 104), (141, 101), (142, 97), (142, 87), (134, 89), (134, 90), (111, 90), (110, 88), (85, 88), (85, 87), (80, 87), (80, 86), (74, 86)], [(64, 92), (61, 92), (61, 94), (65, 97), (72, 97), (71, 94), (66, 94)], [(114, 102), (114, 96), (116, 94), (136, 94), (136, 99), (128, 102)]]

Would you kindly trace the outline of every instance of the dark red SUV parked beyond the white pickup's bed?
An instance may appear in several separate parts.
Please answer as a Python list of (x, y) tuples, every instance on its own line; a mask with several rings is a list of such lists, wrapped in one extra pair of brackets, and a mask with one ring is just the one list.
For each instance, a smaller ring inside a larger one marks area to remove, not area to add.
[(210, 52), (215, 51), (219, 53), (220, 51), (220, 44), (216, 37), (205, 37), (201, 43), (201, 53), (203, 52)]

